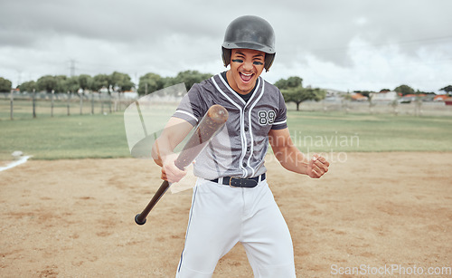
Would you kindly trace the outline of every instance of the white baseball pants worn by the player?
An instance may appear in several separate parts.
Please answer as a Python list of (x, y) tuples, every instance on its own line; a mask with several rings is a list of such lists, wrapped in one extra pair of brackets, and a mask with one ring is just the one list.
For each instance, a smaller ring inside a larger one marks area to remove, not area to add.
[(176, 278), (212, 277), (238, 242), (255, 277), (296, 277), (292, 239), (267, 180), (241, 188), (198, 178)]

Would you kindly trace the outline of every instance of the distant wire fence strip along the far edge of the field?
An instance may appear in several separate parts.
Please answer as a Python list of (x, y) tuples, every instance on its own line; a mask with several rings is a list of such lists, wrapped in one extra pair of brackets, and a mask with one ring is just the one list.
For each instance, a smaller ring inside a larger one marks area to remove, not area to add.
[[(0, 120), (53, 117), (61, 115), (107, 114), (125, 110), (136, 99), (122, 93), (0, 93)], [(171, 102), (178, 101), (174, 98)], [(293, 102), (287, 102), (288, 110), (297, 110)], [(305, 101), (301, 111), (322, 111), (388, 114), (411, 116), (452, 116), (452, 105), (444, 101)]]

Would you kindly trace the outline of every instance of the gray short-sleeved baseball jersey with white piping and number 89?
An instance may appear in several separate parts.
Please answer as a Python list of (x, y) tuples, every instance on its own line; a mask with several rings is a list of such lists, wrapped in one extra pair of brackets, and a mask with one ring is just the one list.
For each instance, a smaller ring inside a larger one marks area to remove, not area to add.
[(278, 88), (259, 77), (250, 100), (245, 102), (221, 74), (194, 84), (173, 117), (193, 126), (213, 104), (229, 112), (221, 131), (203, 149), (193, 168), (196, 177), (257, 177), (266, 172), (264, 157), (270, 129), (287, 128), (287, 109)]

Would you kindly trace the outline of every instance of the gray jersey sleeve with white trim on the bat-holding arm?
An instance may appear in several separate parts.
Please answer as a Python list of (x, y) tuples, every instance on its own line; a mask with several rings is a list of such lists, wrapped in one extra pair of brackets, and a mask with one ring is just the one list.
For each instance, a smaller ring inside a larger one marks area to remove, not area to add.
[(207, 111), (205, 110), (205, 105), (203, 105), (201, 93), (202, 87), (199, 84), (193, 84), (190, 91), (184, 95), (182, 101), (179, 103), (173, 117), (186, 120), (193, 127), (196, 126)]

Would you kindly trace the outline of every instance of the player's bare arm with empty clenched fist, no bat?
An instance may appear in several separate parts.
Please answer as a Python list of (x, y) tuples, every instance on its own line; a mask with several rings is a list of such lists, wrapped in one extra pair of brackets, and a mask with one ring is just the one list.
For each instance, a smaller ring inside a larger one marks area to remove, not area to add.
[(271, 129), (268, 140), (275, 157), (287, 170), (314, 178), (322, 177), (328, 171), (330, 164), (325, 158), (315, 155), (309, 159), (297, 149), (288, 129)]

